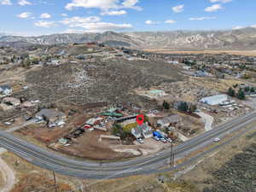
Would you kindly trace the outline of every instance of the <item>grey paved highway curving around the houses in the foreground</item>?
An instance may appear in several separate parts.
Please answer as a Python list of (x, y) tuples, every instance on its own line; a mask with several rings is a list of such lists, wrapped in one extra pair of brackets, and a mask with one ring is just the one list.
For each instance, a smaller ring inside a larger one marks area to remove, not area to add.
[[(206, 147), (215, 137), (224, 137), (233, 131), (244, 130), (246, 125), (256, 120), (256, 112), (248, 113), (228, 123), (219, 125), (201, 136), (178, 145), (174, 148), (175, 160), (191, 152)], [(34, 165), (55, 171), (63, 175), (82, 178), (127, 177), (130, 175), (163, 172), (160, 170), (170, 162), (170, 149), (158, 154), (139, 157), (134, 160), (98, 163), (90, 160), (73, 160), (60, 154), (40, 148), (32, 143), (0, 131), (0, 146), (6, 148)]]

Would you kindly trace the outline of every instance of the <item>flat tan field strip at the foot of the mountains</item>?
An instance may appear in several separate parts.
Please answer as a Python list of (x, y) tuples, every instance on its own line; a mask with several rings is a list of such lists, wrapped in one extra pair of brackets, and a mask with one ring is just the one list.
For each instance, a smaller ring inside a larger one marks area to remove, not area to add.
[(256, 56), (256, 50), (200, 50), (200, 51), (177, 51), (168, 49), (145, 49), (145, 51), (162, 54), (229, 54)]

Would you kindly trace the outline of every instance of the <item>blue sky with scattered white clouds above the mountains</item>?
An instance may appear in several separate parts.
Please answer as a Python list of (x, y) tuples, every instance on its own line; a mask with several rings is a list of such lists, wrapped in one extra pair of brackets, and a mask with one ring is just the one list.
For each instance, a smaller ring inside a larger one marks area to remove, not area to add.
[(0, 32), (219, 30), (256, 27), (255, 0), (0, 0)]

